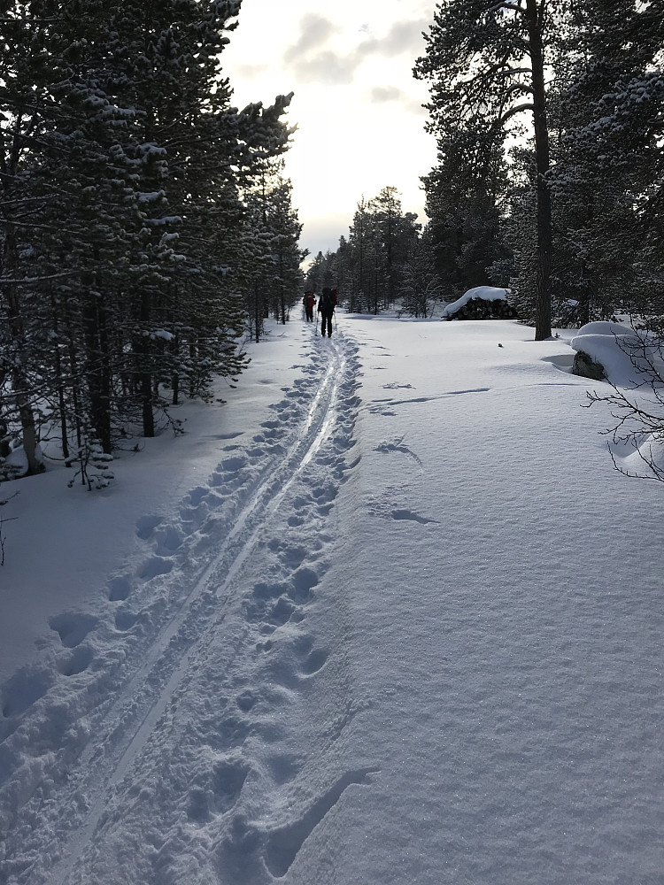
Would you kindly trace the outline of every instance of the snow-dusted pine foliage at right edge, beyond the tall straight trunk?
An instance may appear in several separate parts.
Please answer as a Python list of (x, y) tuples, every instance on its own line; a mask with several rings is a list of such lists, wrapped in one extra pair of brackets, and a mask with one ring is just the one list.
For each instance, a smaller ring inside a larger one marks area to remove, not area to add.
[(650, 295), (661, 312), (664, 4), (591, 0), (575, 8), (572, 38), (552, 104), (554, 292), (578, 324), (651, 312)]

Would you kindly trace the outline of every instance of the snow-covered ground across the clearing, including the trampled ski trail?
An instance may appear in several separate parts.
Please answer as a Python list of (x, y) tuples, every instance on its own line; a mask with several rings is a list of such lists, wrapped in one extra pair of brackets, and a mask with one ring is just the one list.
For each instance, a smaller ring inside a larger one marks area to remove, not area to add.
[(1, 882), (664, 881), (663, 489), (573, 333), (338, 325), (14, 483)]

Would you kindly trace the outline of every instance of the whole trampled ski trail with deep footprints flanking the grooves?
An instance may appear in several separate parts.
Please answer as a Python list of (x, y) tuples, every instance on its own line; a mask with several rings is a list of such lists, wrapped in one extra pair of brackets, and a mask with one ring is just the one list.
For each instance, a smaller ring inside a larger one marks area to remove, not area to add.
[[(310, 795), (307, 760), (288, 751), (283, 727), (284, 704), (305, 716), (331, 658), (340, 688), (319, 745), (333, 747), (359, 712), (343, 650), (307, 627), (334, 501), (358, 463), (357, 347), (303, 334), (313, 373), (303, 364), (274, 419), (247, 442), (219, 435), (228, 444), (205, 485), (174, 517), (138, 520), (143, 562), (111, 576), (100, 613), (53, 618), (59, 650), (0, 686), (7, 885), (197, 881), (190, 866), (178, 872), (192, 828), (220, 845), (217, 881), (274, 881), (345, 790), (370, 782), (375, 768), (333, 765)], [(234, 812), (252, 779), (259, 824)], [(179, 860), (164, 850), (166, 831)]]

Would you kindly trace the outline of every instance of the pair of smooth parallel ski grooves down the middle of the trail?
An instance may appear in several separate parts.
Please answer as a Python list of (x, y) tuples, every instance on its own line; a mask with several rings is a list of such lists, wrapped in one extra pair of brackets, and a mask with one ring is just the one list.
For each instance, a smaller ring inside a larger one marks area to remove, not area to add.
[[(95, 770), (97, 787), (89, 795), (89, 811), (76, 828), (76, 833), (62, 846), (61, 859), (52, 868), (50, 885), (66, 885), (79, 858), (92, 840), (97, 825), (104, 817), (112, 789), (120, 783), (127, 769), (150, 739), (154, 728), (174, 692), (189, 671), (197, 653), (208, 642), (212, 630), (224, 620), (225, 610), (233, 598), (233, 583), (244, 563), (265, 534), (269, 520), (278, 511), (291, 485), (304, 472), (320, 445), (329, 435), (336, 418), (336, 400), (346, 372), (343, 346), (330, 342), (331, 360), (320, 382), (320, 387), (296, 439), (282, 456), (274, 473), (259, 481), (259, 485), (235, 518), (235, 524), (221, 544), (212, 562), (199, 575), (173, 619), (163, 628), (144, 656), (143, 665), (134, 673), (120, 695), (104, 714), (98, 729), (104, 737), (81, 754), (77, 768), (85, 772)], [(209, 595), (214, 602), (215, 616), (209, 620), (210, 610), (192, 611), (199, 597)], [(193, 622), (193, 623), (192, 623)], [(193, 635), (193, 640), (182, 642), (182, 635)], [(180, 637), (177, 665), (165, 681), (168, 672), (168, 648)], [(158, 685), (155, 692), (154, 684)], [(136, 696), (143, 695), (140, 713), (135, 711)], [(134, 708), (134, 709), (132, 709)], [(127, 710), (131, 710), (127, 725)], [(120, 722), (120, 726), (117, 723)], [(105, 723), (105, 728), (104, 728)]]

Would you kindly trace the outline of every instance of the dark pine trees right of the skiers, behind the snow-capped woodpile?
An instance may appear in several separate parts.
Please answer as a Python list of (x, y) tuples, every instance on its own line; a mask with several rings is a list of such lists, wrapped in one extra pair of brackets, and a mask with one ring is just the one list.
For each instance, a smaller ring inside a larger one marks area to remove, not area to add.
[[(334, 256), (348, 300), (404, 294), (419, 250), (447, 301), (510, 287), (537, 339), (664, 314), (664, 0), (444, 0), (425, 40), (429, 222), (402, 216), (389, 261), (384, 215), (360, 204)], [(430, 279), (413, 274), (413, 313)]]

